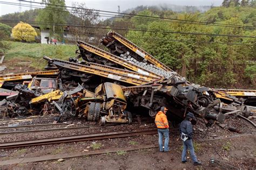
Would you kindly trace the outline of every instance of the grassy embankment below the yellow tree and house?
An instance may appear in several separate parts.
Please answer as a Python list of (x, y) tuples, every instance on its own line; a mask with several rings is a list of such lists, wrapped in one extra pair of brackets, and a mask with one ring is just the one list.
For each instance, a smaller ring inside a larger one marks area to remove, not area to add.
[(44, 55), (68, 60), (70, 56), (76, 56), (77, 49), (76, 45), (29, 44), (13, 41), (4, 41), (4, 44), (8, 46), (5, 51), (4, 65), (10, 70), (15, 68), (29, 71), (43, 70), (47, 65), (47, 61), (43, 59)]

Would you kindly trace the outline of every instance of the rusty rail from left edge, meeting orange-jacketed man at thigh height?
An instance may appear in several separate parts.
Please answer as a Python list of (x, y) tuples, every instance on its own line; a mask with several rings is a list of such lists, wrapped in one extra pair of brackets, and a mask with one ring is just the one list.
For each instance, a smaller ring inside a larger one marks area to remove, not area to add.
[(154, 128), (154, 129), (144, 129), (144, 130), (91, 133), (91, 134), (83, 134), (83, 135), (77, 135), (77, 136), (15, 141), (10, 143), (0, 143), (0, 148), (13, 148), (13, 147), (35, 146), (35, 145), (69, 143), (69, 142), (86, 141), (86, 140), (122, 138), (122, 137), (138, 136), (143, 134), (144, 135), (157, 134), (157, 130)]

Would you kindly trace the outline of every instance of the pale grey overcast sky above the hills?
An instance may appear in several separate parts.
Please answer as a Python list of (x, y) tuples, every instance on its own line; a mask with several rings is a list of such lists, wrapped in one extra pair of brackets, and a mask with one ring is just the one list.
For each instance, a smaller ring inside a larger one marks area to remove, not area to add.
[[(26, 1), (35, 1), (41, 2), (41, 0), (26, 0)], [(18, 0), (2, 0), (1, 2), (12, 2), (19, 3)], [(19, 12), (19, 6), (1, 4), (0, 2), (0, 16), (7, 13)], [(188, 5), (188, 6), (201, 6), (201, 5), (214, 5), (219, 6), (223, 0), (66, 0), (66, 5), (71, 6), (72, 2), (85, 2), (87, 8), (105, 10), (105, 11), (114, 11), (117, 12), (118, 5), (120, 10), (124, 11), (129, 8), (134, 8), (138, 5)], [(22, 2), (23, 4), (30, 4)], [(38, 5), (38, 4), (36, 4)], [(28, 7), (22, 6), (21, 11), (30, 10)]]

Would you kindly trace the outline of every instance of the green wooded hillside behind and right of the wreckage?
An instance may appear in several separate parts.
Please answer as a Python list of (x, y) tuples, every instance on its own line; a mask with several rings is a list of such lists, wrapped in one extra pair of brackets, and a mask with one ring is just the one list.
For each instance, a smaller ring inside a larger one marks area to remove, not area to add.
[[(139, 16), (134, 17), (138, 19), (118, 18), (112, 25), (126, 23), (133, 29), (145, 30), (122, 31), (122, 34), (191, 82), (218, 88), (253, 88), (256, 81), (256, 8), (253, 2), (247, 5), (239, 3), (237, 6), (232, 4), (231, 2), (230, 6), (212, 8), (205, 13), (175, 13), (150, 9), (138, 13), (142, 16), (207, 22), (205, 25), (163, 20), (151, 22)], [(254, 29), (215, 26), (210, 23), (252, 26)]]

